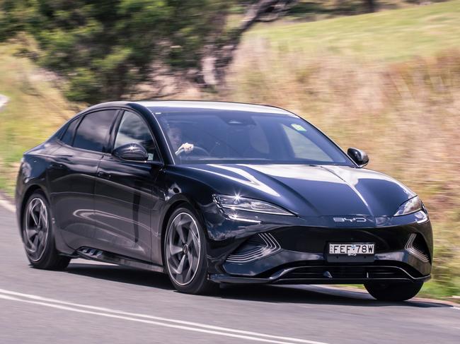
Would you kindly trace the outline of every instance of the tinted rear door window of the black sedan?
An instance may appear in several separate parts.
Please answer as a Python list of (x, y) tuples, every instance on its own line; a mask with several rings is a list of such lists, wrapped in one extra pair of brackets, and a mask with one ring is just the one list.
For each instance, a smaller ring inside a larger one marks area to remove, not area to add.
[(116, 110), (91, 112), (81, 120), (74, 138), (74, 147), (102, 152), (108, 143), (108, 132)]

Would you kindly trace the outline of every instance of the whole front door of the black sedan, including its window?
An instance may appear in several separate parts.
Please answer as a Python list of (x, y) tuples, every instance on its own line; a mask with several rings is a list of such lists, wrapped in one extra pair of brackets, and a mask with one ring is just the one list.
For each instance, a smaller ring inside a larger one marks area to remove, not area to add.
[(113, 149), (137, 143), (149, 153), (145, 162), (105, 154), (95, 190), (96, 239), (100, 249), (144, 261), (151, 260), (151, 211), (159, 199), (155, 179), (163, 167), (148, 124), (132, 111), (120, 114)]

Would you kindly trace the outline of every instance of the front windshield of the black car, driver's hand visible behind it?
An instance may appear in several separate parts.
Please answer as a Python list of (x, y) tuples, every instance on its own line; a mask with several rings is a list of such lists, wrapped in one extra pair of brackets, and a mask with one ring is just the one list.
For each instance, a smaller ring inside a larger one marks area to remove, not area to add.
[(196, 109), (155, 114), (176, 164), (352, 166), (342, 150), (294, 115)]

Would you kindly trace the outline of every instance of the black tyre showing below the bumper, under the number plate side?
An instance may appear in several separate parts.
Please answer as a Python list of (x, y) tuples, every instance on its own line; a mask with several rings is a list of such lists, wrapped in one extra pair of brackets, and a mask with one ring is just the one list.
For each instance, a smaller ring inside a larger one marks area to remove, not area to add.
[(423, 282), (364, 283), (370, 295), (381, 301), (406, 301), (422, 289)]

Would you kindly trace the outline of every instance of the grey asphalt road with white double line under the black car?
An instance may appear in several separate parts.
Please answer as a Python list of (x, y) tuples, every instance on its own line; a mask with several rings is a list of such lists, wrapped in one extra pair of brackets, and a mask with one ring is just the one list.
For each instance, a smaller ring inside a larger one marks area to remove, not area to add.
[(0, 261), (0, 343), (460, 343), (452, 304), (317, 286), (183, 295), (166, 275), (91, 261), (30, 268), (2, 204)]

